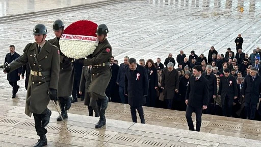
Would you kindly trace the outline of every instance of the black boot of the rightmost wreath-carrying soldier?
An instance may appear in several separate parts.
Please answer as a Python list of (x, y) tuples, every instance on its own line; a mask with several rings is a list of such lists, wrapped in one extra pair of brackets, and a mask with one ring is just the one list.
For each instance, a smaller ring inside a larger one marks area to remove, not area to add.
[(106, 96), (105, 99), (99, 99), (96, 101), (98, 106), (98, 113), (100, 115), (100, 119), (95, 125), (95, 128), (101, 128), (102, 126), (106, 125), (106, 117), (105, 117), (105, 110), (108, 107), (109, 99)]

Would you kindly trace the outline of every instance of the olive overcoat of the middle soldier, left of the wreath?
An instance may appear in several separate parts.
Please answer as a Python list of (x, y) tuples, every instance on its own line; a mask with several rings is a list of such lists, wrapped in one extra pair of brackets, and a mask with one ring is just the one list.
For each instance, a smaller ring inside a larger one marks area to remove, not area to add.
[[(59, 40), (57, 37), (48, 40), (51, 44), (56, 45), (60, 49)], [(61, 51), (60, 51), (61, 53)], [(60, 73), (57, 89), (57, 96), (70, 96), (73, 88), (74, 71), (71, 62), (63, 62), (64, 55), (60, 54)]]

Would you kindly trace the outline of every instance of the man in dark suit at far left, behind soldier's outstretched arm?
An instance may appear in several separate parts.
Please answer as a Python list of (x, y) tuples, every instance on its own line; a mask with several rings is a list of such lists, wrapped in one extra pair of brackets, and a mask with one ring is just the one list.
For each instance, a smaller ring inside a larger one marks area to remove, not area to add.
[[(20, 57), (20, 55), (15, 52), (14, 45), (10, 45), (9, 50), (10, 50), (10, 53), (6, 54), (5, 63), (11, 63), (16, 58)], [(12, 98), (15, 98), (16, 93), (20, 87), (19, 85), (17, 85), (17, 81), (20, 80), (21, 72), (22, 72), (22, 67), (19, 67), (19, 68), (15, 69), (14, 71), (9, 72), (7, 74), (7, 80), (9, 82), (9, 84), (13, 87)], [(5, 72), (5, 74), (6, 73), (7, 72)]]

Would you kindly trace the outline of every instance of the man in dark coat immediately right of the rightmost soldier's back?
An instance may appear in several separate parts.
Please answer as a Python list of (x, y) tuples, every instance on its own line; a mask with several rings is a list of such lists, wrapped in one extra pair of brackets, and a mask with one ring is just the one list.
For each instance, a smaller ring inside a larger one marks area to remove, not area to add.
[(114, 63), (114, 57), (112, 56), (110, 59), (110, 67), (112, 69), (112, 78), (110, 80), (109, 85), (105, 90), (105, 94), (109, 97), (111, 102), (120, 103), (120, 96), (119, 96), (119, 85), (116, 83), (117, 75), (119, 71), (119, 65)]

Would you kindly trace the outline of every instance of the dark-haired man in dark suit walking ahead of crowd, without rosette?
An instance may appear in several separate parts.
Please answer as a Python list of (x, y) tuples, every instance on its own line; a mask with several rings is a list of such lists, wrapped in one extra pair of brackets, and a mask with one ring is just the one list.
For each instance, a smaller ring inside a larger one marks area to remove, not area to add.
[(208, 101), (208, 81), (201, 75), (202, 67), (195, 65), (193, 67), (193, 75), (190, 77), (188, 89), (186, 92), (187, 110), (186, 118), (189, 130), (195, 131), (191, 115), (193, 111), (196, 113), (196, 131), (200, 131), (202, 109), (207, 108)]

